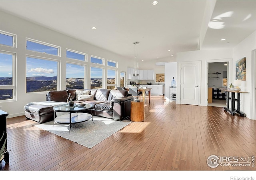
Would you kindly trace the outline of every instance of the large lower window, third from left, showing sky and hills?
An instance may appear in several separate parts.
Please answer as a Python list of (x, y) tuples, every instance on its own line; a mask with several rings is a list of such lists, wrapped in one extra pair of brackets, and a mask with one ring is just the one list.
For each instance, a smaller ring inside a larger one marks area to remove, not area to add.
[(66, 89), (84, 89), (85, 66), (66, 64)]

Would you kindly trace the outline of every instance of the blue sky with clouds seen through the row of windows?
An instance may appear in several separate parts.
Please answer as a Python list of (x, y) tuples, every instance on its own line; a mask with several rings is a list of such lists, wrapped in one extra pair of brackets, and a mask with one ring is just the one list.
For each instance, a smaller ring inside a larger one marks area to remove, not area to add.
[[(0, 44), (13, 46), (13, 37), (5, 34), (0, 34)], [(46, 54), (58, 55), (58, 48), (47, 46), (44, 44), (36, 43), (27, 40), (27, 50), (44, 52)], [(85, 55), (67, 51), (67, 57), (84, 60)], [(103, 64), (102, 59), (91, 57), (91, 62)], [(0, 77), (12, 77), (12, 55), (0, 53)], [(114, 62), (108, 61), (108, 66), (115, 67)], [(76, 64), (66, 64), (66, 78), (84, 78), (85, 66)], [(102, 78), (102, 69), (91, 67), (92, 78)], [(26, 76), (48, 76), (53, 77), (58, 74), (58, 63), (56, 61), (42, 60), (39, 58), (26, 57)], [(114, 70), (108, 70), (108, 78), (115, 78)]]

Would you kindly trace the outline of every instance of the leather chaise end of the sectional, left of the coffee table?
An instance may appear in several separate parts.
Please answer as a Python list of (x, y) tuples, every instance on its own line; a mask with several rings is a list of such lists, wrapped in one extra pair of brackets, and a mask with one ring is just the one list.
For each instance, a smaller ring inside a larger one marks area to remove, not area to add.
[(27, 104), (24, 106), (24, 111), (27, 119), (34, 120), (38, 123), (54, 120), (54, 111), (52, 106)]

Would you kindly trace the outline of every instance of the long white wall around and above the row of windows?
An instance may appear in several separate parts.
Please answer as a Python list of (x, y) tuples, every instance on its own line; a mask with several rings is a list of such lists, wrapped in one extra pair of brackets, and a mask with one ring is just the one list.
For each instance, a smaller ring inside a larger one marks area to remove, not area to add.
[[(0, 102), (0, 105), (3, 107), (3, 110), (9, 113), (8, 118), (24, 115), (23, 106), (28, 102), (37, 102), (37, 101), (45, 101), (46, 96), (45, 92), (43, 93), (26, 93), (26, 54), (32, 56), (40, 57), (40, 53), (31, 52), (26, 50), (26, 38), (32, 38), (35, 40), (39, 40), (42, 42), (47, 42), (50, 44), (54, 44), (56, 46), (60, 46), (61, 57), (44, 55), (44, 57), (54, 59), (59, 61), (60, 64), (60, 87), (59, 89), (66, 89), (66, 62), (77, 62), (76, 60), (70, 60), (66, 58), (66, 48), (76, 50), (79, 52), (84, 52), (88, 55), (88, 59), (91, 55), (98, 56), (101, 58), (105, 58), (106, 60), (113, 60), (118, 62), (118, 84), (120, 84), (120, 71), (127, 71), (127, 66), (129, 60), (120, 56), (118, 54), (114, 54), (107, 50), (98, 48), (96, 46), (92, 46), (80, 40), (68, 37), (64, 34), (60, 34), (48, 28), (44, 28), (37, 24), (28, 22), (21, 18), (12, 16), (10, 14), (6, 14), (5, 12), (0, 11), (0, 30), (5, 32), (10, 32), (12, 34), (17, 35), (17, 48), (10, 48), (6, 46), (0, 45), (0, 50), (14, 52), (16, 53), (16, 95), (17, 100), (13, 100), (11, 102)], [(75, 29), (74, 29), (74, 33)], [(87, 77), (90, 77), (90, 62), (84, 62), (87, 66)], [(106, 66), (104, 66), (106, 67)], [(105, 72), (106, 75), (106, 72)], [(86, 82), (86, 86), (90, 87), (90, 78), (88, 78)]]

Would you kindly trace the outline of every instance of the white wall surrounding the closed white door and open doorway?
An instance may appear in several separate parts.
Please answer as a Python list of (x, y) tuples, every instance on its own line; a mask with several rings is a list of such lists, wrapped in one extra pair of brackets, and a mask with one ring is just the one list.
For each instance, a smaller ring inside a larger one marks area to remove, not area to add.
[[(201, 61), (201, 94), (199, 95), (199, 105), (207, 106), (208, 98), (208, 63), (209, 62), (229, 62), (229, 69), (232, 66), (232, 49), (222, 50), (197, 50), (177, 53), (177, 67), (181, 62)], [(177, 68), (177, 104), (180, 104), (180, 69)], [(231, 75), (230, 75), (231, 76)], [(229, 76), (229, 77), (230, 77)], [(229, 78), (230, 79), (230, 78)]]

